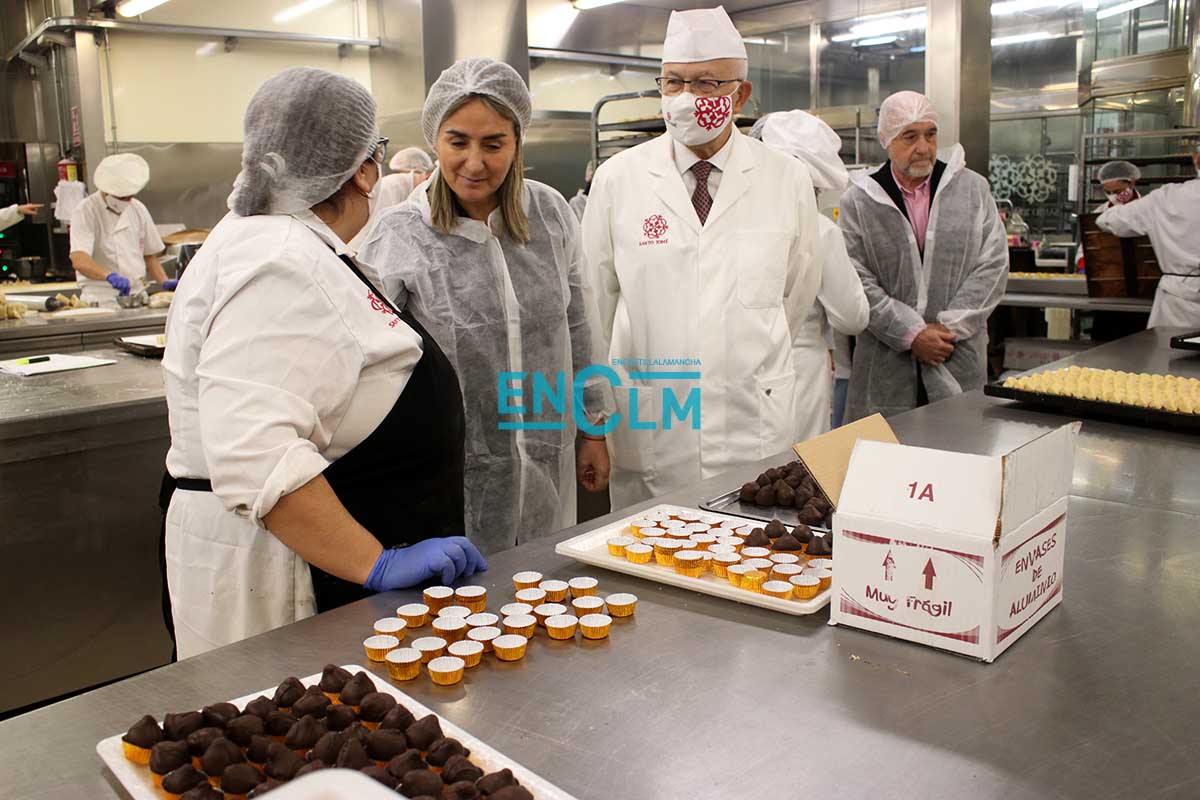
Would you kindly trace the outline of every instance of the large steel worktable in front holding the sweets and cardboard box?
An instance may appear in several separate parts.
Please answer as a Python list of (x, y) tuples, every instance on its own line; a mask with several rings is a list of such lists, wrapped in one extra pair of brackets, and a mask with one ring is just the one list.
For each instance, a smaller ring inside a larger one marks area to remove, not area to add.
[[(1157, 338), (1076, 360), (1133, 366)], [(1061, 422), (978, 392), (893, 421), (905, 443), (982, 453)], [(580, 798), (1194, 798), (1198, 465), (1195, 438), (1085, 422), (1066, 600), (994, 664), (553, 553), (594, 521), (493, 557), (480, 583), (494, 606), (520, 570), (594, 573), (604, 593), (641, 597), (636, 618), (605, 642), (539, 637), (523, 662), (488, 658), (460, 686), (422, 676), (402, 688)], [(661, 500), (695, 504), (742, 480)], [(361, 663), (372, 620), (415, 596), (380, 595), (0, 723), (0, 795), (121, 796), (100, 739), (144, 712)]]

